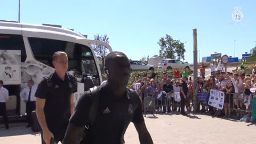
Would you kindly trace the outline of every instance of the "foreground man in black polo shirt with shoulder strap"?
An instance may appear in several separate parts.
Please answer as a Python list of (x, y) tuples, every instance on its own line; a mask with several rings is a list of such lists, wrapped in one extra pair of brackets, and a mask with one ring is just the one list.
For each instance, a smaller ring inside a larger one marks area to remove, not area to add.
[[(140, 98), (136, 92), (126, 87), (131, 74), (129, 59), (122, 52), (111, 52), (105, 59), (105, 66), (108, 80), (97, 87), (97, 112), (81, 143), (123, 144), (130, 122), (133, 122), (139, 134), (140, 143), (153, 143), (142, 115)], [(94, 96), (87, 91), (79, 98), (63, 144), (77, 143), (81, 139), (79, 135), (89, 123), (89, 111), (95, 102), (92, 101)]]

